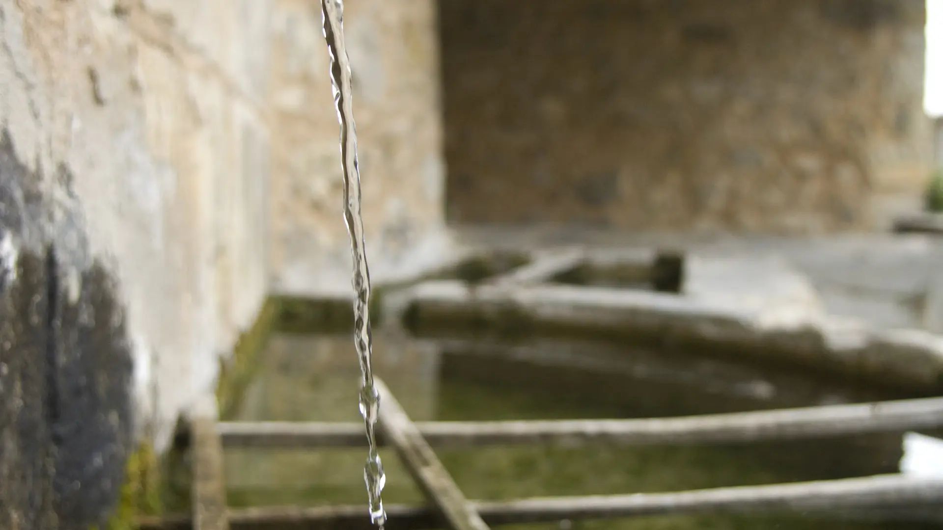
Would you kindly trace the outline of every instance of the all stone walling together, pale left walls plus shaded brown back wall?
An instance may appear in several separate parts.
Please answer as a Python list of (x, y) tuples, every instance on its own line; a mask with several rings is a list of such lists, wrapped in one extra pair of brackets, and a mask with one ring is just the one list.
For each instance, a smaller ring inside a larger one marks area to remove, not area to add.
[[(922, 0), (346, 13), (380, 282), (468, 224), (862, 232), (929, 179)], [(338, 130), (314, 0), (0, 0), (0, 526), (105, 521), (269, 292), (348, 290)]]

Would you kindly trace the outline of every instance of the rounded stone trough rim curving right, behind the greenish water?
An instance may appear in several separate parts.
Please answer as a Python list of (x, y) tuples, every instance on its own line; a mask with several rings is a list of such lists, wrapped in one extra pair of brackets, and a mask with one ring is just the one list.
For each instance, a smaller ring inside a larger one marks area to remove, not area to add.
[(645, 290), (429, 282), (405, 294), (420, 336), (577, 335), (774, 361), (918, 392), (943, 389), (943, 338), (874, 330), (817, 311)]

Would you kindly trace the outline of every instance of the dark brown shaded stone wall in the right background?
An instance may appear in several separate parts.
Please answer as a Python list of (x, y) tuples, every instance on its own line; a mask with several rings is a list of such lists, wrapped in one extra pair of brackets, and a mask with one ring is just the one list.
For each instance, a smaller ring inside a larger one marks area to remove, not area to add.
[(919, 207), (923, 0), (440, 11), (453, 222), (815, 233)]

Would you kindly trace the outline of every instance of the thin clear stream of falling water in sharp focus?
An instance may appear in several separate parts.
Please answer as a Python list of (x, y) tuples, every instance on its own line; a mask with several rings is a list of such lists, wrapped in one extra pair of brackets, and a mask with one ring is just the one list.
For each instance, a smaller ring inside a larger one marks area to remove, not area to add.
[(354, 256), (354, 345), (360, 361), (360, 414), (367, 428), (369, 455), (364, 467), (364, 480), (370, 502), (370, 517), (381, 530), (387, 514), (380, 500), (386, 483), (383, 464), (377, 452), (375, 426), (380, 411), (380, 395), (373, 387), (372, 335), (370, 329), (370, 269), (364, 243), (363, 219), (360, 216), (360, 171), (356, 157), (356, 126), (351, 104), (350, 58), (344, 47), (343, 0), (322, 0), (324, 40), (331, 56), (331, 86), (340, 123), (340, 165), (344, 178), (344, 222), (350, 234)]

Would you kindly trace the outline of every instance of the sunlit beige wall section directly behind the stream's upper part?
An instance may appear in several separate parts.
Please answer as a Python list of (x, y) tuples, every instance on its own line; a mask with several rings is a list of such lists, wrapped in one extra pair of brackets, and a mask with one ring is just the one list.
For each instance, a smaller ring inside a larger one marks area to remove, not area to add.
[[(272, 225), (277, 289), (350, 290), (339, 125), (320, 3), (273, 1)], [(444, 167), (433, 0), (348, 0), (363, 217), (374, 280), (443, 257)]]

